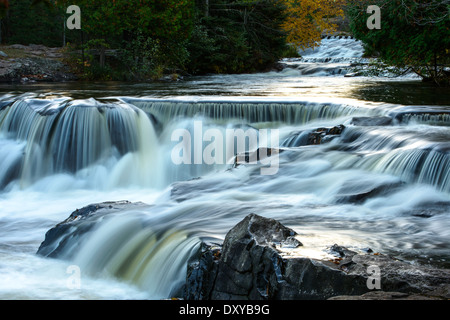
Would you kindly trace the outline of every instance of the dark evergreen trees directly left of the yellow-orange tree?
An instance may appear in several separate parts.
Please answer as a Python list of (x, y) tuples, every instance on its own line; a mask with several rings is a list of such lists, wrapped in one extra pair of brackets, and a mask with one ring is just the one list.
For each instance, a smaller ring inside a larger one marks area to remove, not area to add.
[(286, 50), (282, 0), (209, 0), (196, 6), (188, 49), (193, 73), (266, 68)]

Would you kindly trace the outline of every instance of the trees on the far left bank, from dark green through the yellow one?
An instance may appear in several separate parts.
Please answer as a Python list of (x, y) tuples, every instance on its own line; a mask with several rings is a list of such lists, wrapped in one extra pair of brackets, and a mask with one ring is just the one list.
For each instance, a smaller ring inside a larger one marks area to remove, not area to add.
[[(64, 37), (82, 52), (72, 60), (87, 78), (255, 72), (292, 54), (288, 43), (317, 45), (344, 1), (15, 0), (3, 41), (56, 46)], [(2, 4), (6, 12), (8, 1)], [(69, 4), (81, 9), (81, 30), (64, 28)]]

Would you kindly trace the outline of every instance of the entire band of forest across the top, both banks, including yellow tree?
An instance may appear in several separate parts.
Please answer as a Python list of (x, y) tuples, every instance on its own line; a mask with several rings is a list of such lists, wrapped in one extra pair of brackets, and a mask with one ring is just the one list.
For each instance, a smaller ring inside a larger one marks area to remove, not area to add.
[[(69, 5), (81, 11), (69, 30)], [(369, 5), (382, 27), (367, 28)], [(367, 54), (449, 82), (449, 2), (355, 0), (1, 0), (1, 42), (64, 47), (84, 79), (264, 71), (343, 31)], [(339, 27), (336, 21), (343, 21)], [(447, 35), (447, 36), (445, 36)]]

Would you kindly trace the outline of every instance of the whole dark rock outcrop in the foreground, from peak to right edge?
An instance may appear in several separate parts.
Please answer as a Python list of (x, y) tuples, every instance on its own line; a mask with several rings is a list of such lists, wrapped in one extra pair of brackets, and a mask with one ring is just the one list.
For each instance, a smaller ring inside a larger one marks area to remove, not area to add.
[(191, 261), (185, 298), (324, 300), (372, 295), (387, 299), (368, 286), (373, 276), (369, 267), (373, 266), (380, 270), (380, 290), (389, 292), (390, 298), (430, 292), (442, 297), (450, 287), (447, 269), (412, 265), (372, 250), (357, 253), (338, 245), (328, 249), (332, 258), (314, 259), (302, 255), (301, 248), (293, 230), (276, 220), (249, 215), (229, 231), (221, 249), (204, 245)]

